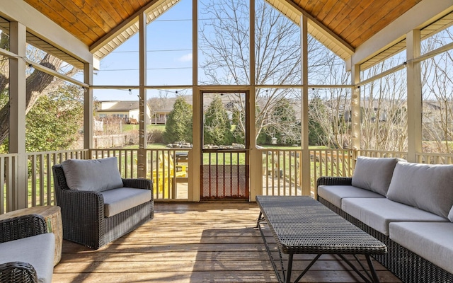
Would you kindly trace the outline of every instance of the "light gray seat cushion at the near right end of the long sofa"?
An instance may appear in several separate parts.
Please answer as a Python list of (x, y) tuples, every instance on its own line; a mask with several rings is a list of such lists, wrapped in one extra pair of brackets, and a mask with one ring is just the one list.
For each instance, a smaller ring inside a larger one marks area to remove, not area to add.
[(390, 224), (390, 238), (453, 273), (453, 223), (395, 222)]

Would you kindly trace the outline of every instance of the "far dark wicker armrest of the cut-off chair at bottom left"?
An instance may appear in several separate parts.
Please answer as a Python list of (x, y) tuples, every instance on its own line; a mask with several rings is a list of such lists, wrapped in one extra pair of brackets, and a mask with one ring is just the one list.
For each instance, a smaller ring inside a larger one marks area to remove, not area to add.
[(0, 220), (0, 243), (43, 233), (47, 233), (46, 222), (44, 217), (38, 214), (28, 214)]

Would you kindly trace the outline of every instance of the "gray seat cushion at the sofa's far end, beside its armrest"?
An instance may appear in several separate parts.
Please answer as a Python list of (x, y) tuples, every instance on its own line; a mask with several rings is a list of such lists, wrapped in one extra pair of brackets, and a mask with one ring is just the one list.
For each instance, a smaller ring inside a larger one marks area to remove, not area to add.
[(352, 185), (320, 185), (318, 187), (318, 195), (324, 200), (338, 208), (341, 208), (341, 200), (349, 197), (385, 197), (377, 192), (365, 190)]

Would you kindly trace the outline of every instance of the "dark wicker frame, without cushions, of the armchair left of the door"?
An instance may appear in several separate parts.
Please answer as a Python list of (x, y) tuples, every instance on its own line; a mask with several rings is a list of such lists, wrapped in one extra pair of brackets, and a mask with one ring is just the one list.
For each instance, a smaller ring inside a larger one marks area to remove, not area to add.
[(97, 249), (137, 229), (154, 217), (153, 185), (146, 179), (122, 179), (124, 187), (151, 190), (151, 201), (114, 216), (104, 212), (101, 192), (71, 190), (60, 164), (52, 167), (55, 198), (62, 209), (63, 238)]

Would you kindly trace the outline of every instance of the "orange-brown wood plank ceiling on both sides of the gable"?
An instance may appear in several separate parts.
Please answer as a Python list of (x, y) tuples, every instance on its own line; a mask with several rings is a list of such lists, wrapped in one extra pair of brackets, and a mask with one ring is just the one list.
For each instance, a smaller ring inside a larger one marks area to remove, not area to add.
[[(137, 21), (130, 21), (132, 18), (137, 18), (137, 12), (147, 8), (148, 21), (152, 21), (178, 0), (24, 1), (91, 47), (95, 57), (101, 59), (137, 32), (136, 28), (132, 28), (128, 33), (123, 33), (127, 28), (137, 25)], [(336, 36), (340, 42), (344, 43), (346, 49), (349, 49), (345, 54), (339, 54), (340, 52), (334, 50), (343, 59), (420, 1), (268, 0), (295, 22), (299, 21), (301, 14), (305, 14), (316, 23), (325, 26), (328, 33)], [(292, 8), (280, 8), (288, 6)], [(159, 13), (156, 13), (156, 9)], [(130, 24), (123, 25), (124, 22), (130, 22)], [(110, 38), (108, 38), (109, 35)], [(321, 35), (314, 36), (327, 47), (331, 45), (331, 42), (328, 39), (322, 39)], [(96, 54), (106, 45), (108, 48)]]

